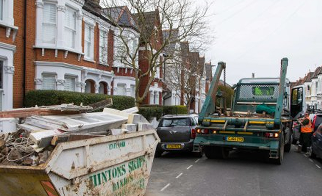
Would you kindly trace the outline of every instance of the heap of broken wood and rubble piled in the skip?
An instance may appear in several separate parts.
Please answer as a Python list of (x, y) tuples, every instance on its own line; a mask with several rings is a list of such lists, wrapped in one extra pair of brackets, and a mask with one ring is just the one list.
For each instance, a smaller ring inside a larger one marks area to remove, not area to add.
[(136, 107), (93, 112), (110, 104), (105, 101), (93, 106), (64, 104), (0, 112), (0, 116), (20, 119), (16, 132), (0, 134), (0, 165), (37, 166), (46, 163), (60, 142), (153, 129), (142, 115), (134, 114)]

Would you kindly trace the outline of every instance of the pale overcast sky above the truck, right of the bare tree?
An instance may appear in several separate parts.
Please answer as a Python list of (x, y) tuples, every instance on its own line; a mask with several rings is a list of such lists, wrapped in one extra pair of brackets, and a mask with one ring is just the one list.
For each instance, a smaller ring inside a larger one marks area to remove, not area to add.
[(205, 58), (226, 62), (229, 84), (252, 72), (279, 77), (283, 57), (291, 81), (322, 65), (322, 0), (215, 0), (209, 14), (215, 40)]

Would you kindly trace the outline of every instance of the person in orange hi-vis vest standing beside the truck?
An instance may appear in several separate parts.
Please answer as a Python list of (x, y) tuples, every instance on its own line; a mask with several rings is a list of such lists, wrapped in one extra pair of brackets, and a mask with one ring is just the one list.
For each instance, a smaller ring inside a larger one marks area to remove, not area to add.
[(312, 122), (309, 117), (309, 113), (305, 112), (304, 118), (299, 119), (298, 122), (301, 125), (301, 134), (300, 134), (300, 139), (298, 140), (298, 148), (297, 152), (300, 153), (301, 151), (303, 152), (308, 152), (310, 146), (311, 146), (311, 137), (312, 137)]

